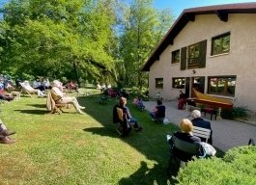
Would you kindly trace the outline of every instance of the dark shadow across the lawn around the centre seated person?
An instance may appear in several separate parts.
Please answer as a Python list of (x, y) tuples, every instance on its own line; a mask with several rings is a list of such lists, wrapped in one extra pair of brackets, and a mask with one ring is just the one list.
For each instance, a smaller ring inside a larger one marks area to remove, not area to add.
[(113, 107), (117, 99), (108, 99), (105, 104), (101, 105), (99, 98), (100, 96), (91, 98), (77, 97), (79, 103), (86, 107), (84, 112), (97, 119), (104, 126), (101, 128), (85, 128), (83, 130), (100, 136), (120, 138), (120, 140), (136, 148), (147, 159), (154, 161), (155, 164), (149, 168), (145, 161), (141, 161), (140, 168), (128, 177), (120, 179), (118, 184), (174, 184), (171, 176), (167, 174), (169, 145), (166, 142), (166, 134), (170, 134), (175, 126), (171, 124), (154, 124), (147, 111), (141, 112), (128, 104), (131, 114), (134, 118), (139, 119), (143, 130), (142, 132), (131, 130), (128, 137), (120, 137), (116, 132), (119, 124), (114, 124), (112, 121)]

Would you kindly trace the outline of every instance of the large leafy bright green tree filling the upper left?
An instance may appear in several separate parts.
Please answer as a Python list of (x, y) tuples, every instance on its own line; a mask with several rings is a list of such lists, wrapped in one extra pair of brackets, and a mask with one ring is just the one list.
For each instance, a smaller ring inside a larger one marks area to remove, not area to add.
[[(34, 75), (100, 76), (111, 70), (109, 0), (12, 0), (4, 8), (1, 65)], [(108, 5), (108, 6), (106, 6)], [(58, 72), (57, 71), (61, 71)], [(84, 72), (86, 71), (86, 72)]]

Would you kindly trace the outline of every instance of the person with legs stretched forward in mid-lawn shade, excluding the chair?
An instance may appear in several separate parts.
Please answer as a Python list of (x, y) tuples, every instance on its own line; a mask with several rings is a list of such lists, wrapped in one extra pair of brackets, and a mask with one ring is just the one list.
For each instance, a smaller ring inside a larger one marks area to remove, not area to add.
[(127, 98), (120, 97), (119, 99), (119, 107), (123, 109), (124, 116), (128, 119), (128, 122), (134, 127), (136, 131), (141, 131), (142, 127), (139, 126), (137, 119), (131, 117), (127, 105)]

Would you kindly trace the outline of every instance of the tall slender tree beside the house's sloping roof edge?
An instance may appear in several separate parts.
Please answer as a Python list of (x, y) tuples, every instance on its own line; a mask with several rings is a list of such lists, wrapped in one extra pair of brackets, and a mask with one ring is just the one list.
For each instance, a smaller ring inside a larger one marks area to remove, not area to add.
[(124, 17), (120, 55), (126, 68), (125, 81), (141, 88), (146, 74), (140, 68), (173, 19), (170, 12), (156, 11), (153, 0), (132, 1)]

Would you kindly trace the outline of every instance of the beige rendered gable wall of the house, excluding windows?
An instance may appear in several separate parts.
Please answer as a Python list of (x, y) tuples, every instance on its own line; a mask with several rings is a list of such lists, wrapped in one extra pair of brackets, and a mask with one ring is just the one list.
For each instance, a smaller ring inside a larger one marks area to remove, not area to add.
[[(167, 100), (176, 99), (179, 90), (172, 89), (172, 77), (205, 76), (207, 92), (208, 76), (236, 75), (234, 103), (256, 111), (256, 14), (229, 14), (228, 22), (218, 19), (216, 14), (196, 15), (194, 22), (185, 28), (169, 45), (150, 68), (150, 95), (156, 92)], [(231, 32), (230, 53), (211, 56), (211, 40), (214, 36)], [(205, 68), (180, 70), (180, 64), (171, 65), (171, 52), (190, 44), (207, 40), (207, 62)], [(155, 78), (163, 78), (163, 90), (155, 88)], [(185, 92), (185, 90), (184, 90)]]

